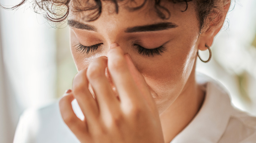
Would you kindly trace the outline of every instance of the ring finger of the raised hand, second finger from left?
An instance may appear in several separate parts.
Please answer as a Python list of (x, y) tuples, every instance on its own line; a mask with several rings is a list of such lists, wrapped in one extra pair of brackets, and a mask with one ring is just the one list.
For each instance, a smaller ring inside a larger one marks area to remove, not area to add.
[(73, 93), (88, 122), (95, 123), (99, 115), (98, 105), (93, 95), (89, 91), (89, 82), (86, 77), (86, 71), (79, 71), (73, 80)]

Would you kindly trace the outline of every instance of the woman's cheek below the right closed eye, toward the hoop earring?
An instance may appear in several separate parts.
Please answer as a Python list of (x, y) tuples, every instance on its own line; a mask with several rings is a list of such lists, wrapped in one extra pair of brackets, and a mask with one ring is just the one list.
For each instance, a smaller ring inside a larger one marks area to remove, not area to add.
[(137, 60), (140, 61), (137, 63), (138, 70), (145, 77), (155, 96), (162, 96), (157, 98), (179, 95), (181, 92), (194, 66), (196, 58), (194, 41), (196, 40), (191, 39), (187, 42), (172, 43), (173, 47), (169, 47), (167, 52), (158, 58)]

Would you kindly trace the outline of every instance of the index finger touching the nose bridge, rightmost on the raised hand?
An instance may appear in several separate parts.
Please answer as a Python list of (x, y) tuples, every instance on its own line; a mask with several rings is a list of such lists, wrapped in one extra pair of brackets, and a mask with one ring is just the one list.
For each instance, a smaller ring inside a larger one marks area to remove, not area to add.
[(134, 103), (134, 100), (140, 100), (139, 89), (129, 71), (124, 53), (119, 46), (112, 47), (108, 52), (108, 70), (117, 87), (121, 102)]

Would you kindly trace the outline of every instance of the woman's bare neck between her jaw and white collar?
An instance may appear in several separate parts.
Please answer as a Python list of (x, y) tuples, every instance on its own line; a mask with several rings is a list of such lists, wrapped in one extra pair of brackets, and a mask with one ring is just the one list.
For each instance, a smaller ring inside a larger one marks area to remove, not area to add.
[(192, 72), (179, 97), (160, 114), (166, 143), (178, 135), (195, 117), (203, 104), (204, 95), (204, 91), (196, 83), (195, 72)]

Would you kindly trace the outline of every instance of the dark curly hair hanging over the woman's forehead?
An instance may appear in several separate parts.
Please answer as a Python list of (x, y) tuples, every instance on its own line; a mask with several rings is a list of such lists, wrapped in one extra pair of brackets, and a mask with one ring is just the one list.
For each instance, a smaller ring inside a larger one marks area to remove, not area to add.
[[(18, 5), (6, 8), (0, 4), (1, 8), (5, 9), (17, 9), (21, 5), (25, 4), (28, 0), (22, 0)], [(72, 0), (73, 7), (75, 12), (82, 12), (82, 11), (90, 11), (89, 15), (87, 15), (86, 21), (95, 21), (98, 19), (102, 12), (102, 2), (101, 0), (84, 0), (81, 4), (79, 0)], [(106, 1), (106, 0), (103, 0)], [(123, 0), (109, 0), (115, 5), (115, 11), (118, 13), (118, 2)], [(168, 19), (170, 17), (170, 12), (167, 8), (160, 5), (161, 0), (154, 0), (155, 1), (155, 11), (161, 19)], [(213, 13), (214, 8), (218, 8), (218, 3), (223, 0), (168, 0), (172, 3), (184, 3), (186, 8), (182, 10), (182, 12), (186, 11), (188, 8), (188, 2), (195, 1), (197, 6), (197, 13), (198, 13), (198, 20), (199, 20), (199, 28), (200, 31), (205, 25), (205, 21), (208, 15)], [(44, 12), (44, 17), (51, 22), (62, 22), (64, 21), (70, 12), (70, 2), (71, 0), (32, 0), (32, 8), (34, 12), (41, 13), (40, 11)], [(135, 2), (135, 0), (130, 0), (129, 2)], [(147, 0), (144, 0), (142, 4), (136, 7), (126, 7), (130, 11), (138, 10), (142, 8)], [(74, 5), (75, 3), (75, 5)], [(165, 14), (164, 14), (165, 13)]]

